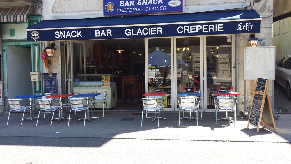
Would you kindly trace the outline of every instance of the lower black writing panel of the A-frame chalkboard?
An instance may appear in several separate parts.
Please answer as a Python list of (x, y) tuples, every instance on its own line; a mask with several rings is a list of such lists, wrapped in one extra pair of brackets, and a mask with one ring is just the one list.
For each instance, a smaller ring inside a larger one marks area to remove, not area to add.
[(249, 119), (249, 122), (255, 126), (258, 126), (259, 124), (262, 101), (263, 101), (263, 95), (255, 94), (254, 99), (253, 99), (250, 119)]

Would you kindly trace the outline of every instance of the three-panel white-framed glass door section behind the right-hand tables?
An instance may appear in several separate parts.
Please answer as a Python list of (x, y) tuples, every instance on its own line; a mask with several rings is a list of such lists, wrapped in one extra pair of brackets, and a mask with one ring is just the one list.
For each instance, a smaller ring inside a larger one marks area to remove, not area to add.
[(230, 86), (236, 90), (235, 42), (231, 38), (235, 35), (146, 38), (146, 91), (166, 91), (165, 107), (178, 111), (178, 94), (184, 87), (195, 87), (202, 95), (201, 110), (213, 112), (217, 85), (220, 90)]

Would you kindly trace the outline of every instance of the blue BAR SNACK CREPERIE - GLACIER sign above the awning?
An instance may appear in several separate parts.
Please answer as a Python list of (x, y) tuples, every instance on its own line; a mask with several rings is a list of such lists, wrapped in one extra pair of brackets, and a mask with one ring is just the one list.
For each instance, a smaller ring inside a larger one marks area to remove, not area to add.
[(103, 0), (103, 15), (183, 12), (183, 0)]

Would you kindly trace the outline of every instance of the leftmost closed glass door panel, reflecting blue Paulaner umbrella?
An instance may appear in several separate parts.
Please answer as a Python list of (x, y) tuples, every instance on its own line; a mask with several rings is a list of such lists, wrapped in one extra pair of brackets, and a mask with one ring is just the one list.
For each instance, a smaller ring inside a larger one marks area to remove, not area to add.
[[(173, 38), (154, 38), (147, 39), (146, 46), (146, 66), (148, 71), (146, 78), (148, 80), (148, 90), (165, 91), (165, 108), (172, 109), (173, 87)], [(147, 88), (147, 87), (146, 87)]]

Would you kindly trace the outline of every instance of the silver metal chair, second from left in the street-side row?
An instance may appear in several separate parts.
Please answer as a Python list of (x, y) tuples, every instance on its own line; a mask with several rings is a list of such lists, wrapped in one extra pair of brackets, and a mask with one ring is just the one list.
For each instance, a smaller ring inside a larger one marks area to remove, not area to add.
[[(39, 105), (40, 110), (38, 112), (36, 126), (38, 124), (38, 119), (39, 119), (40, 113), (44, 113), (45, 114), (45, 112), (52, 113), (52, 120), (51, 120), (51, 124), (50, 124), (50, 126), (52, 126), (52, 122), (53, 122), (53, 119), (54, 119), (54, 113), (55, 113), (56, 110), (60, 110), (61, 109), (61, 106), (51, 106), (51, 103), (52, 103), (52, 101), (53, 102), (58, 102), (58, 103), (60, 103), (61, 101), (59, 101), (59, 100), (52, 100), (52, 99), (37, 99), (37, 101), (38, 101), (38, 105)], [(61, 112), (61, 110), (60, 110), (60, 112)]]

